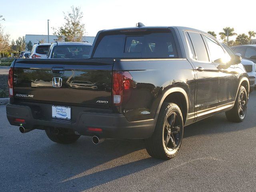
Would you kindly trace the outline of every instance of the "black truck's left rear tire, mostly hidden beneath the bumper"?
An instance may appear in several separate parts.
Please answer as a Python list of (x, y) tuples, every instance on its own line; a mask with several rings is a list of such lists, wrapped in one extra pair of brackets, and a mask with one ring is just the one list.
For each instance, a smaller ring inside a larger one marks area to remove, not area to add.
[(50, 140), (56, 143), (61, 143), (61, 144), (71, 144), (76, 142), (80, 138), (80, 135), (76, 135), (76, 134), (70, 134), (70, 133), (64, 134), (61, 132), (56, 133), (54, 132), (53, 128), (47, 128), (45, 132)]

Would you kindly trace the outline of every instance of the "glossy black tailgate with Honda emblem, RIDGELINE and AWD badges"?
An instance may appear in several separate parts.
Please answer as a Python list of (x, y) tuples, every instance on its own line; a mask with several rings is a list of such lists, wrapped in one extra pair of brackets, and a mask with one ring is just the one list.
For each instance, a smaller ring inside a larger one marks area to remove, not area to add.
[(114, 60), (26, 59), (14, 63), (14, 102), (110, 108)]

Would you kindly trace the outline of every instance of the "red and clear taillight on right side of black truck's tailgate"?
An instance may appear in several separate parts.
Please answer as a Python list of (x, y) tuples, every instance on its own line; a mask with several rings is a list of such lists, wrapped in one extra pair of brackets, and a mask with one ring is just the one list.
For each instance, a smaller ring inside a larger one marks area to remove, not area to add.
[(132, 89), (132, 75), (127, 71), (116, 71), (112, 75), (112, 96), (113, 103), (120, 106), (127, 102)]

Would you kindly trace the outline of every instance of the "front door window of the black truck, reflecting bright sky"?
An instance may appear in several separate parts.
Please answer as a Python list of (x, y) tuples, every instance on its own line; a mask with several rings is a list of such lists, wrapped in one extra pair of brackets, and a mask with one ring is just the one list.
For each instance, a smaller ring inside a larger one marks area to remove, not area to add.
[(227, 57), (223, 48), (220, 46), (220, 44), (218, 44), (216, 40), (209, 36), (204, 36), (204, 38), (208, 45), (212, 62), (218, 62), (217, 60)]

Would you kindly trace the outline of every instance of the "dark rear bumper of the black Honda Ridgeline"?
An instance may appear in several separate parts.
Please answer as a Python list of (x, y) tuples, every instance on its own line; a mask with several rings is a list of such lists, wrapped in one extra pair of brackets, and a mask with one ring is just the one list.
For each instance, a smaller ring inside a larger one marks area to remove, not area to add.
[[(48, 106), (48, 104), (45, 104)], [(75, 109), (74, 109), (75, 110)], [(76, 120), (62, 120), (48, 118), (47, 120), (36, 119), (32, 115), (30, 106), (8, 104), (6, 105), (7, 118), (10, 124), (19, 126), (15, 118), (25, 120), (26, 128), (44, 129), (46, 127), (67, 128), (81, 135), (101, 136), (104, 138), (138, 139), (149, 138), (155, 127), (155, 120), (143, 120), (129, 122), (123, 114), (89, 112), (84, 108), (76, 116)], [(102, 132), (90, 132), (88, 127), (101, 128)]]

